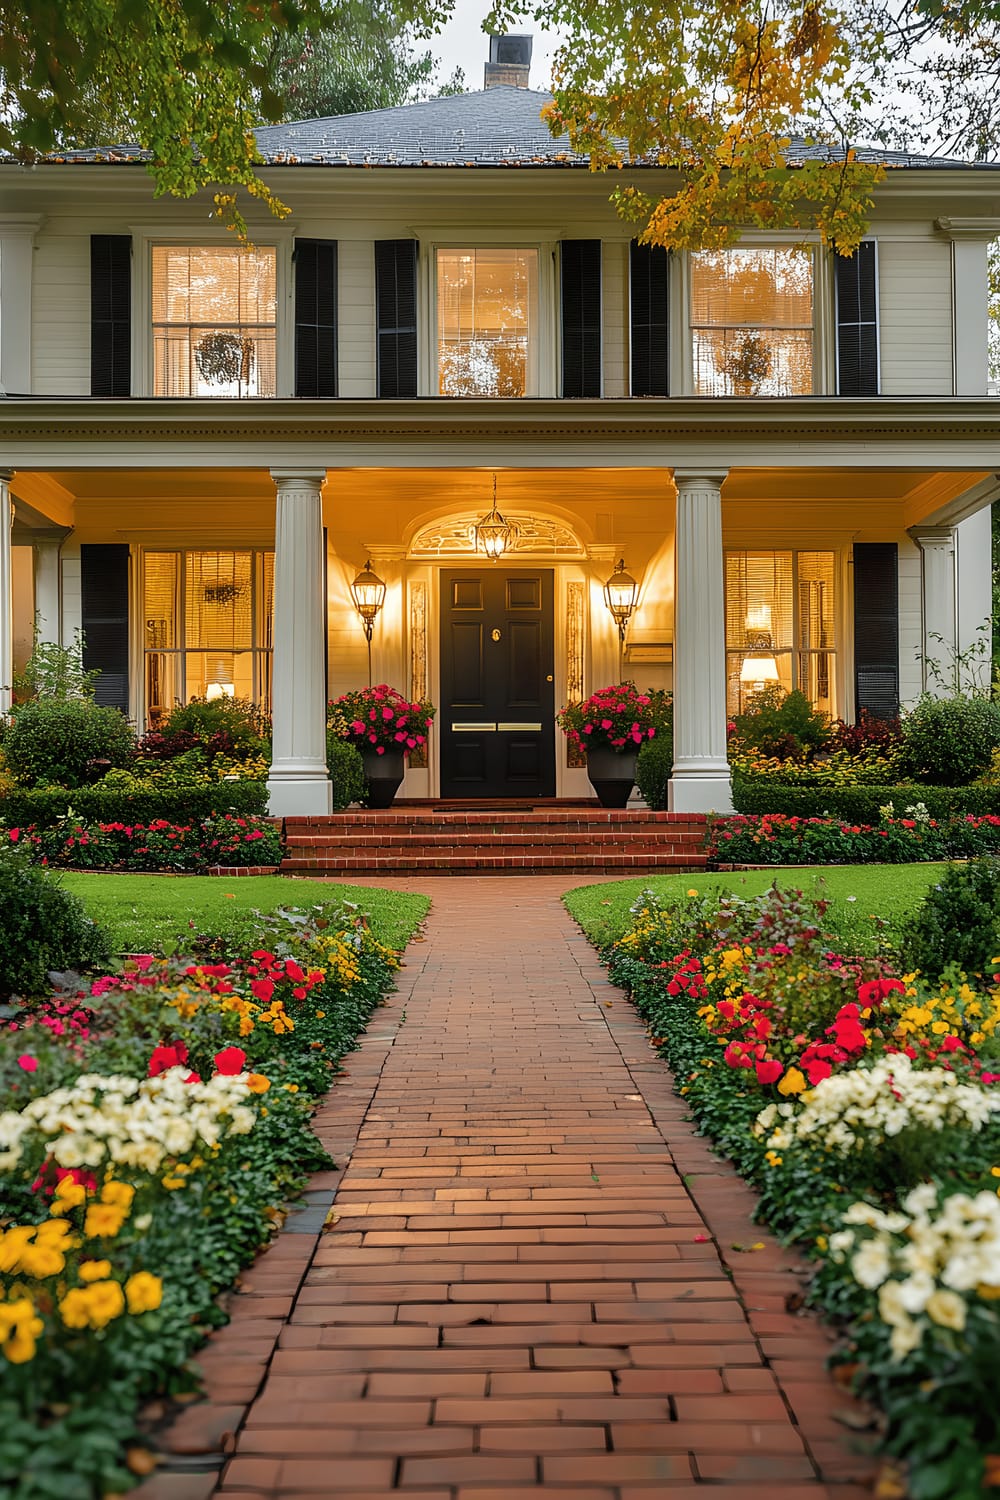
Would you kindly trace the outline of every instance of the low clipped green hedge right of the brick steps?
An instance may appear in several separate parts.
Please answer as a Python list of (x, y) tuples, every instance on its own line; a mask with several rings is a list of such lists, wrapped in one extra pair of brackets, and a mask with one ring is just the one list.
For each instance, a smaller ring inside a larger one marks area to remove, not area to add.
[(895, 816), (924, 802), (931, 818), (1000, 814), (1000, 786), (781, 786), (765, 777), (733, 777), (738, 813), (783, 813), (786, 818), (841, 818), (849, 824), (877, 824), (880, 808), (892, 802)]

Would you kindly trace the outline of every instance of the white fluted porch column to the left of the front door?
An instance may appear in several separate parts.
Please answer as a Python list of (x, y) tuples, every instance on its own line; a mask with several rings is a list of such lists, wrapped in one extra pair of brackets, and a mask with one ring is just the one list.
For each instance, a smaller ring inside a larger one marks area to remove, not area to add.
[(322, 590), (325, 472), (271, 470), (274, 522), (274, 669), (268, 810), (328, 813), (327, 602)]

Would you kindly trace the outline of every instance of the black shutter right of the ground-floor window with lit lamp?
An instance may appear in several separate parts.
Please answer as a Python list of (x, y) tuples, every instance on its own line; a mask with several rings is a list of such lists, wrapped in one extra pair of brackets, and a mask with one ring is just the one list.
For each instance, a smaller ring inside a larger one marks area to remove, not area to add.
[(900, 712), (900, 592), (895, 542), (855, 543), (855, 710)]

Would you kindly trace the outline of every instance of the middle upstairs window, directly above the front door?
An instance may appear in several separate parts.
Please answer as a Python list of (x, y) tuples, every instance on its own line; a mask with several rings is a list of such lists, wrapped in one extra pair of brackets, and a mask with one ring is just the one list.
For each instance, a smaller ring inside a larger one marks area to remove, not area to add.
[(538, 250), (438, 250), (438, 392), (538, 392)]

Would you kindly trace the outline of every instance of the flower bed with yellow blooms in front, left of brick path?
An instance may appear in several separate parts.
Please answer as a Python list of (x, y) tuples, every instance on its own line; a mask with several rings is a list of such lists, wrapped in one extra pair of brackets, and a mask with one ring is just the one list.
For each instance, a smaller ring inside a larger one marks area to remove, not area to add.
[(142, 956), (0, 1030), (3, 1494), (136, 1482), (139, 1402), (196, 1386), (217, 1293), (327, 1164), (313, 1101), (397, 960), (348, 914), (265, 944)]

